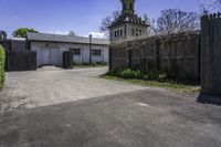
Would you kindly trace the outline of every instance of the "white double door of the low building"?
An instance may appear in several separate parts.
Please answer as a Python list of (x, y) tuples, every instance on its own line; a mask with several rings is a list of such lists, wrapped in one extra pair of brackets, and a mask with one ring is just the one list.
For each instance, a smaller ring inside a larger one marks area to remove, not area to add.
[(43, 65), (60, 65), (59, 49), (44, 49), (42, 54)]

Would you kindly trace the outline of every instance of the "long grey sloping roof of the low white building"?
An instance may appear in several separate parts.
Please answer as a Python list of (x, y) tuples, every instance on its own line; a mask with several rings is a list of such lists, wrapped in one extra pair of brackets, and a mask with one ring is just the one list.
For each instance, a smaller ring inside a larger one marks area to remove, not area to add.
[[(90, 44), (90, 38), (50, 34), (50, 33), (28, 33), (27, 39), (28, 41)], [(106, 39), (93, 38), (92, 43), (97, 45), (108, 45), (109, 41)]]

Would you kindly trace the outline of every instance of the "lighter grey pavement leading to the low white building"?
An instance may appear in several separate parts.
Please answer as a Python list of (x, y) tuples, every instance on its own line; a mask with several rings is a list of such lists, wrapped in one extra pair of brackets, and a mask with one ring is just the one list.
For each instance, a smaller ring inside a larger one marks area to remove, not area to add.
[(147, 88), (101, 78), (106, 72), (107, 67), (65, 71), (48, 66), (7, 73), (0, 113)]

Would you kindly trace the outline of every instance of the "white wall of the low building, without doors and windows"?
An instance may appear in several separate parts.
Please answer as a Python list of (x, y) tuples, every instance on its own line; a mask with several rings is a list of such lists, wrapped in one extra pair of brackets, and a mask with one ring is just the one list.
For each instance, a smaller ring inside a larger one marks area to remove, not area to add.
[[(70, 49), (81, 49), (81, 55), (73, 56), (73, 62), (88, 63), (90, 62), (90, 44), (74, 44), (74, 43), (48, 43), (48, 42), (31, 42), (31, 50), (36, 51), (36, 64), (41, 66), (43, 63), (44, 49), (59, 49), (59, 65), (63, 65), (63, 52)], [(93, 56), (93, 62), (108, 62), (108, 46), (107, 45), (92, 45), (92, 49), (102, 50), (101, 56)]]

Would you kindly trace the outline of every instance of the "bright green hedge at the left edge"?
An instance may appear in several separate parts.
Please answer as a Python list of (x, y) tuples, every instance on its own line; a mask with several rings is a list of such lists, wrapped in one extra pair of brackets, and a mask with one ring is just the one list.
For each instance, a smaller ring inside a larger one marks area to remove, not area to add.
[(0, 45), (0, 90), (4, 82), (4, 49)]

